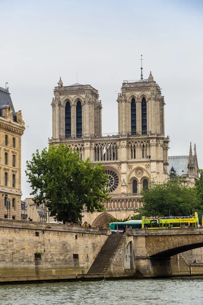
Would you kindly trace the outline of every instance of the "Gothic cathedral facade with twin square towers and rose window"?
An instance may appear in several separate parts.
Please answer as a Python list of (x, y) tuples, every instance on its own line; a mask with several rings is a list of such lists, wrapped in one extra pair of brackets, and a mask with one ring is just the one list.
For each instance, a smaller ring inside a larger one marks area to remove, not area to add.
[[(142, 68), (141, 68), (142, 72)], [(124, 219), (141, 206), (142, 188), (168, 179), (168, 142), (164, 135), (164, 97), (152, 73), (148, 79), (123, 81), (118, 94), (118, 134), (102, 136), (101, 101), (97, 89), (79, 83), (63, 86), (60, 78), (52, 100), (52, 138), (65, 143), (82, 159), (101, 162), (109, 175), (111, 200), (106, 211), (84, 220), (101, 225)]]

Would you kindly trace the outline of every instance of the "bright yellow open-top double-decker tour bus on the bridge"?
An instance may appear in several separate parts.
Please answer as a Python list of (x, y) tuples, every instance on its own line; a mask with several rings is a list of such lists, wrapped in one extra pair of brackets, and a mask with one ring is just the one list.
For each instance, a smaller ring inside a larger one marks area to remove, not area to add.
[(192, 216), (143, 217), (143, 229), (196, 228), (199, 223), (197, 212)]

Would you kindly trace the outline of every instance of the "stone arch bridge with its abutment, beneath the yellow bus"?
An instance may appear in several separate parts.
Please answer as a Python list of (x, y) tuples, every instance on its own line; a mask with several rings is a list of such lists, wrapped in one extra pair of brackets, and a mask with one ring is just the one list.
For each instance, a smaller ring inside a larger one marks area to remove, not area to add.
[(171, 257), (200, 247), (203, 228), (127, 229), (109, 271), (117, 276), (126, 272), (149, 278), (173, 276)]

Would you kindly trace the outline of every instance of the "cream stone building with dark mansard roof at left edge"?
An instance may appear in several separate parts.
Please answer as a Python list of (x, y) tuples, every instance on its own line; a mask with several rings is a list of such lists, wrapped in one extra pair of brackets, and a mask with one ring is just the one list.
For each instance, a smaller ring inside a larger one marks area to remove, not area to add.
[(0, 218), (21, 219), (21, 110), (15, 112), (9, 88), (0, 87)]

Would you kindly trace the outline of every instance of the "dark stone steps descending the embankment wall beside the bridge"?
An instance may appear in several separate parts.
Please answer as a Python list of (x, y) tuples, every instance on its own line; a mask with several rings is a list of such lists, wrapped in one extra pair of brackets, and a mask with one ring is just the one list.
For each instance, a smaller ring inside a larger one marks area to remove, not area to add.
[(108, 237), (87, 273), (104, 273), (110, 259), (123, 237), (123, 234), (112, 234)]

